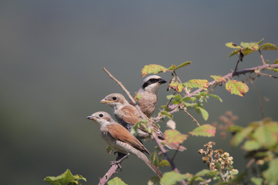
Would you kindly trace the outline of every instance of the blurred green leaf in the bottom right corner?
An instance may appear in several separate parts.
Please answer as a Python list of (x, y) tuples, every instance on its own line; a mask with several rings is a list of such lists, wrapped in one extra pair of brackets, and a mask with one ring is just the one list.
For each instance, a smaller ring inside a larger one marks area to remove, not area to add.
[(278, 158), (272, 159), (269, 163), (269, 168), (262, 173), (267, 181), (278, 183)]

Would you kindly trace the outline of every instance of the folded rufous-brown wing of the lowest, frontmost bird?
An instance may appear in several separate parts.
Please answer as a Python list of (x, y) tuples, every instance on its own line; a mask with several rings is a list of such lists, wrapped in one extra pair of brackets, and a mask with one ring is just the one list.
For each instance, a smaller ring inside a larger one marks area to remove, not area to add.
[(126, 130), (125, 127), (123, 127), (120, 124), (111, 124), (107, 126), (107, 130), (110, 133), (110, 135), (115, 138), (116, 140), (123, 141), (125, 143), (130, 144), (134, 148), (146, 152), (148, 154), (151, 154), (145, 146), (140, 143), (138, 139), (135, 138), (128, 130)]

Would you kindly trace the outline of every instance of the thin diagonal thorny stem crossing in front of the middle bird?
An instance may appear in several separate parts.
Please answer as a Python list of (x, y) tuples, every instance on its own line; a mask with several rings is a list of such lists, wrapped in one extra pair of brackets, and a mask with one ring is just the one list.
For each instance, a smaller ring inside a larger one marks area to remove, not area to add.
[[(102, 67), (103, 70), (105, 70), (105, 72), (113, 79), (115, 80), (116, 83), (118, 83), (121, 88), (125, 91), (125, 93), (128, 95), (128, 97), (130, 98), (131, 102), (135, 105), (135, 107), (137, 108), (137, 110), (139, 111), (140, 113), (140, 116), (141, 118), (143, 119), (144, 118), (144, 114), (143, 112), (141, 111), (140, 107), (136, 104), (135, 100), (133, 99), (133, 97), (130, 95), (130, 93), (128, 92), (128, 90), (123, 86), (123, 84), (121, 82), (119, 82), (113, 75), (111, 75), (111, 73), (105, 69), (105, 67)], [(148, 120), (148, 122), (150, 122)], [(180, 173), (180, 171), (178, 171), (178, 169), (176, 168), (175, 164), (173, 163), (172, 159), (170, 158), (170, 156), (168, 155), (167, 151), (163, 148), (163, 145), (160, 143), (160, 141), (158, 140), (158, 136), (157, 136), (157, 133), (156, 132), (152, 132), (153, 136), (154, 136), (154, 139), (155, 141), (157, 142), (157, 145), (158, 147), (160, 148), (160, 150), (162, 151), (162, 153), (164, 154), (165, 158), (169, 161), (172, 169), (174, 171), (176, 171), (177, 173)], [(110, 168), (111, 169), (111, 168)], [(182, 180), (180, 181), (180, 184), (182, 185), (187, 185), (187, 183)]]

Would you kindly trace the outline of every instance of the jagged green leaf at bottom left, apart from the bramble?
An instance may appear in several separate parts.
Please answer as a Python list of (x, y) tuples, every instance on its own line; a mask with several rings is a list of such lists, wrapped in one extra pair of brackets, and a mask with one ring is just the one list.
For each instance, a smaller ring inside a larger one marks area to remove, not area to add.
[(46, 177), (43, 179), (43, 181), (47, 181), (50, 184), (54, 185), (73, 185), (73, 184), (80, 184), (79, 180), (82, 179), (86, 181), (85, 178), (83, 178), (81, 175), (75, 175), (71, 174), (70, 170), (67, 169), (63, 174), (57, 176), (57, 177)]

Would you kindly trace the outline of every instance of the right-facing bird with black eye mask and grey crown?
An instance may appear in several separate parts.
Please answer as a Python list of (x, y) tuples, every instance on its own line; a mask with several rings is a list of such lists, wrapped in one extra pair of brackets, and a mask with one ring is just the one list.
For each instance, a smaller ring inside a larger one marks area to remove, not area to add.
[[(133, 96), (133, 99), (136, 101), (136, 96), (140, 95), (137, 104), (148, 118), (152, 117), (157, 106), (158, 89), (162, 83), (166, 82), (167, 81), (162, 79), (160, 76), (149, 76), (143, 80), (141, 88)], [(132, 101), (130, 104), (134, 106)]]

